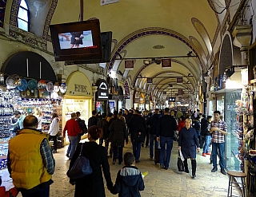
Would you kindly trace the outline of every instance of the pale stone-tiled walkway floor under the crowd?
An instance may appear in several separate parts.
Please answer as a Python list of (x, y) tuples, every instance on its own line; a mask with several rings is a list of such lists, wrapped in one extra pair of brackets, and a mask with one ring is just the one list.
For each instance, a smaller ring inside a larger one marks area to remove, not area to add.
[[(53, 175), (54, 183), (50, 186), (50, 197), (71, 197), (74, 196), (74, 186), (70, 185), (69, 179), (66, 176), (66, 171), (70, 161), (66, 158), (66, 148), (61, 148), (58, 153), (54, 154), (56, 160), (55, 172)], [(124, 148), (124, 152), (132, 152), (131, 144)], [(202, 153), (197, 156), (197, 177), (191, 179), (190, 174), (179, 172), (176, 166), (178, 156), (178, 145), (174, 143), (174, 148), (170, 160), (170, 168), (168, 170), (160, 169), (154, 161), (149, 160), (149, 148), (142, 148), (140, 163), (137, 167), (140, 171), (149, 171), (149, 174), (144, 178), (145, 190), (141, 192), (142, 197), (208, 197), (208, 196), (226, 196), (228, 187), (228, 176), (222, 175), (220, 170), (215, 173), (210, 172), (212, 165), (210, 164), (210, 156), (203, 157)], [(118, 170), (122, 167), (112, 165), (110, 162), (110, 171), (112, 181), (114, 182)], [(189, 162), (190, 166), (190, 162)], [(190, 170), (191, 171), (191, 170)], [(12, 187), (11, 179), (8, 171), (0, 171), (3, 178), (3, 185), (6, 188)], [(242, 196), (240, 191), (234, 189), (233, 194)], [(18, 195), (20, 197), (22, 195)], [(106, 196), (111, 195), (106, 189)]]

